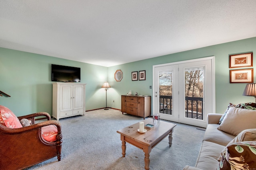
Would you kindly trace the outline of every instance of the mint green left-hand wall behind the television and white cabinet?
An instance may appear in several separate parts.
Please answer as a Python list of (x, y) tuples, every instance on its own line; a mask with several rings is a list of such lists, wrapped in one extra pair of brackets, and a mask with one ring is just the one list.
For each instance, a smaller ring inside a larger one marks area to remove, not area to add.
[(0, 96), (0, 105), (16, 115), (45, 111), (52, 115), (51, 64), (81, 68), (81, 82), (86, 85), (86, 110), (105, 107), (108, 68), (0, 48), (0, 90), (11, 97)]

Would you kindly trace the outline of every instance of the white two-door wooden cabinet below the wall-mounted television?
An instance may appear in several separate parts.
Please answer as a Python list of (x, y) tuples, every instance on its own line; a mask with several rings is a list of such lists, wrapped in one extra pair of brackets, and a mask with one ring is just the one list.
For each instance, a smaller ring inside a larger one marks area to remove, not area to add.
[(52, 117), (60, 118), (85, 113), (84, 83), (52, 83)]

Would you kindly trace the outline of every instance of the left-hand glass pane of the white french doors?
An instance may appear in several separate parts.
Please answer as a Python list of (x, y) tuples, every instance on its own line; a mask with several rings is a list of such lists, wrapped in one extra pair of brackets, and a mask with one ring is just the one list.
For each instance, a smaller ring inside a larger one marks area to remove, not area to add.
[(159, 113), (172, 115), (172, 71), (159, 73)]

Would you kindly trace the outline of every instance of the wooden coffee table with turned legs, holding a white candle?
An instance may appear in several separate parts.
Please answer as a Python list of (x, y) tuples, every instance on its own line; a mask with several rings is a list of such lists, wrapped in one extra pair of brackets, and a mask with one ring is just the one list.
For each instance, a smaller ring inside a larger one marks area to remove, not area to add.
[[(153, 125), (153, 119), (148, 118), (144, 121), (144, 125), (146, 124), (152, 124)], [(173, 128), (176, 126), (176, 124), (160, 121), (158, 125), (154, 125), (154, 127), (144, 127), (144, 129), (147, 130), (146, 133), (139, 133), (139, 122), (135, 123), (134, 125), (130, 125), (128, 127), (125, 127), (123, 129), (120, 129), (116, 131), (117, 133), (120, 133), (121, 135), (121, 141), (122, 141), (122, 154), (123, 157), (125, 157), (125, 151), (126, 151), (126, 142), (134, 145), (135, 147), (138, 147), (143, 150), (145, 153), (145, 169), (149, 170), (149, 153), (151, 152), (151, 149), (154, 148), (160, 141), (162, 141), (165, 137), (169, 135), (169, 146), (172, 146), (172, 132)]]

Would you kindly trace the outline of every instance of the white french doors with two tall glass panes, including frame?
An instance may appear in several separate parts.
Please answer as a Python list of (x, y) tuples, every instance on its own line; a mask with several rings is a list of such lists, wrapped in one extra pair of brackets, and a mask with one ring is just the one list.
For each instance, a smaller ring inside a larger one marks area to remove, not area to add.
[(206, 127), (215, 112), (214, 57), (153, 66), (153, 113)]

